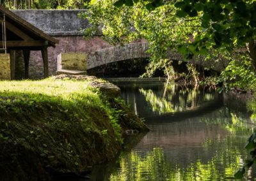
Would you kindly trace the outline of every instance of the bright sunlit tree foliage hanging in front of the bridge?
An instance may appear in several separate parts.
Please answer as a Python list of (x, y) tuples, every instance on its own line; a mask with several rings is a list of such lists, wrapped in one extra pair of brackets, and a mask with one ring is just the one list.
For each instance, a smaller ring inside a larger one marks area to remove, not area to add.
[[(148, 3), (154, 1), (134, 2), (132, 8), (116, 8), (113, 6), (115, 2), (100, 0), (88, 4), (89, 9), (83, 17), (91, 27), (84, 29), (84, 35), (91, 37), (102, 27), (104, 39), (114, 45), (145, 39), (149, 43), (148, 54), (151, 55), (152, 64), (149, 67), (163, 68), (166, 60), (170, 61), (169, 54), (176, 52), (175, 47), (186, 43), (191, 34), (200, 29), (200, 21), (197, 18), (180, 20), (175, 17), (176, 9), (171, 1), (166, 1), (154, 11), (148, 11), (146, 8)], [(189, 57), (189, 54), (186, 56)], [(152, 75), (153, 72), (148, 68), (147, 75)]]

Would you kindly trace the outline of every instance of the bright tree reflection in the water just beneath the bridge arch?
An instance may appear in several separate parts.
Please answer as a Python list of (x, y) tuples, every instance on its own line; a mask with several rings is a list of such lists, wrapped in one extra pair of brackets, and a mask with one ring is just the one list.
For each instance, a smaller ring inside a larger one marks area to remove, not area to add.
[[(168, 85), (164, 92), (155, 92), (152, 89), (139, 89), (145, 96), (147, 103), (152, 107), (153, 112), (175, 113), (196, 108), (204, 105), (207, 101), (216, 99), (216, 92), (193, 89), (192, 87), (182, 88), (179, 85)], [(164, 94), (164, 96), (163, 96)]]

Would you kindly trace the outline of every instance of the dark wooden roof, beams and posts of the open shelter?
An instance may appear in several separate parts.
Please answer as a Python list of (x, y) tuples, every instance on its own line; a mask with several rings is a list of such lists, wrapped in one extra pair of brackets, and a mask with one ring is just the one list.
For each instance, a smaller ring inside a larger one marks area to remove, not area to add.
[[(25, 65), (25, 78), (29, 75), (31, 50), (40, 50), (44, 62), (44, 76), (48, 76), (47, 47), (55, 47), (58, 40), (45, 34), (26, 20), (0, 6), (0, 52), (10, 54), (11, 78), (15, 77), (15, 51), (22, 50)], [(1, 36), (2, 35), (2, 36)]]

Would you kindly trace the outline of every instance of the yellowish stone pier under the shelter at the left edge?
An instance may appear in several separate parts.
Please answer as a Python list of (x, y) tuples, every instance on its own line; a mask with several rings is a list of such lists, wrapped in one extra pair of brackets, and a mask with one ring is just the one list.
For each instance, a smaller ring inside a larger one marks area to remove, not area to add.
[(0, 54), (0, 79), (11, 80), (10, 54)]

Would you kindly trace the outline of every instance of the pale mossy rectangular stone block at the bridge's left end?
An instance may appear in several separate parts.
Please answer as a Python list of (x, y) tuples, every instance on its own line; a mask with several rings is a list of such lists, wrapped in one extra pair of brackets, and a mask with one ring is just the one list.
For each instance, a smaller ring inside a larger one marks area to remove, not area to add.
[(84, 53), (61, 53), (57, 57), (57, 71), (70, 69), (86, 71), (87, 54)]

